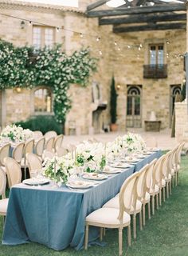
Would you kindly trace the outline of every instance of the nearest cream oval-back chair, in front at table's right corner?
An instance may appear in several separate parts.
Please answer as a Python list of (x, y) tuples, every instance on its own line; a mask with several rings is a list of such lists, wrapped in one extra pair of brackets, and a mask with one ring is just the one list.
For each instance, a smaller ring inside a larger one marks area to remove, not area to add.
[(119, 229), (119, 255), (123, 254), (122, 230), (127, 226), (128, 245), (131, 245), (131, 217), (127, 214), (131, 210), (132, 201), (136, 197), (136, 182), (139, 174), (135, 173), (128, 177), (119, 192), (119, 208), (103, 207), (95, 210), (85, 220), (84, 249), (88, 249), (88, 227), (100, 227), (100, 240), (103, 238), (103, 228)]

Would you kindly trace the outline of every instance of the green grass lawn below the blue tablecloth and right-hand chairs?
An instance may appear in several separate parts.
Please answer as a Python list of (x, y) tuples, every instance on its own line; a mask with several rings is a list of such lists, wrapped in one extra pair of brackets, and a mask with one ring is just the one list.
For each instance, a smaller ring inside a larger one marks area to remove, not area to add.
[[(137, 232), (137, 240), (127, 248), (127, 230), (123, 231), (123, 255), (127, 256), (186, 256), (188, 255), (188, 157), (182, 157), (179, 185), (163, 203), (155, 216), (147, 221), (143, 231)], [(2, 236), (2, 220), (0, 220)], [(107, 245), (91, 246), (88, 251), (68, 248), (63, 251), (50, 250), (37, 243), (22, 246), (0, 245), (0, 256), (116, 256), (118, 255), (117, 230), (107, 230), (104, 241)]]

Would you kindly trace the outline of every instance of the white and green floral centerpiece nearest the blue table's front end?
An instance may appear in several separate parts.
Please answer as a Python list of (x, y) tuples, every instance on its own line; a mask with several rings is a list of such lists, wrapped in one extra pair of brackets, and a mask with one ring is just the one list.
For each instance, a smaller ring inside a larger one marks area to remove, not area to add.
[(43, 162), (43, 174), (54, 182), (57, 182), (58, 186), (66, 183), (69, 177), (75, 174), (74, 160), (71, 154), (66, 154), (61, 158), (46, 158), (45, 162)]

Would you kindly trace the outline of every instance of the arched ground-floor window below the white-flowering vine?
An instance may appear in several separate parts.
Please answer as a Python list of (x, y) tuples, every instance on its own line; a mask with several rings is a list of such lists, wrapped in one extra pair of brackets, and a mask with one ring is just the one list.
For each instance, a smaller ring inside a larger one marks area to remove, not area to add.
[(34, 112), (52, 112), (52, 93), (49, 88), (41, 87), (34, 91)]

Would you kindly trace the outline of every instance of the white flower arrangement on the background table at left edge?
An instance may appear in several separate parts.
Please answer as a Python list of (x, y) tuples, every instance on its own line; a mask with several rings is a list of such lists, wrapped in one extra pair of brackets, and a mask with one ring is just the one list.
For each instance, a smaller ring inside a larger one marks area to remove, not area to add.
[(23, 142), (33, 138), (33, 132), (13, 124), (3, 129), (0, 137), (1, 139), (7, 138), (10, 142)]

